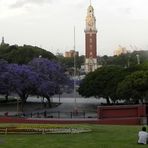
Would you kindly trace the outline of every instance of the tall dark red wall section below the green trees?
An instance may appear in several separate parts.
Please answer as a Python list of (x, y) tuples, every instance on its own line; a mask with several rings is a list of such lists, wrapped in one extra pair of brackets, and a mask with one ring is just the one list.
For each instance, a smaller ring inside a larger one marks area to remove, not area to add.
[(148, 105), (99, 106), (98, 119), (106, 124), (147, 124)]

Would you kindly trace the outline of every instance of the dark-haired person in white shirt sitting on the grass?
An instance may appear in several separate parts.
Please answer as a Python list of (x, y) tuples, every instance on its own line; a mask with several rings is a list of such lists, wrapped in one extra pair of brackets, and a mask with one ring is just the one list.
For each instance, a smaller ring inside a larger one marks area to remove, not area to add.
[(145, 126), (142, 127), (142, 131), (139, 131), (138, 138), (138, 144), (148, 144), (148, 133)]

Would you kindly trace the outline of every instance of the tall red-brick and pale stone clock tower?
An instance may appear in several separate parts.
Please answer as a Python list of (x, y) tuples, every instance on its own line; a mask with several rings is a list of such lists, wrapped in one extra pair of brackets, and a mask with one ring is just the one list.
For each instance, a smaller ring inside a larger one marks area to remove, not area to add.
[(87, 8), (85, 28), (85, 72), (92, 72), (97, 69), (97, 29), (94, 8), (91, 5)]

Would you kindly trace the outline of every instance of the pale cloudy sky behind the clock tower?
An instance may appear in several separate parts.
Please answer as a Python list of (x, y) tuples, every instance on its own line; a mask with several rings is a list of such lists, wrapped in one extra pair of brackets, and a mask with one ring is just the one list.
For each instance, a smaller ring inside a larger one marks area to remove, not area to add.
[[(9, 44), (85, 54), (84, 29), (89, 0), (0, 0), (0, 38)], [(148, 0), (92, 0), (98, 30), (98, 55), (113, 55), (118, 45), (148, 49)], [(131, 48), (132, 47), (132, 48)]]

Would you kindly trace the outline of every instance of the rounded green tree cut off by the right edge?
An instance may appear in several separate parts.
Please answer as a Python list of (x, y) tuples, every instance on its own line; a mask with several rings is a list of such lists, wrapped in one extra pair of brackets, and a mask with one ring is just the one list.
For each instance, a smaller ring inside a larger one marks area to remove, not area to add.
[(148, 71), (136, 71), (118, 84), (117, 95), (127, 102), (138, 103), (148, 96)]

